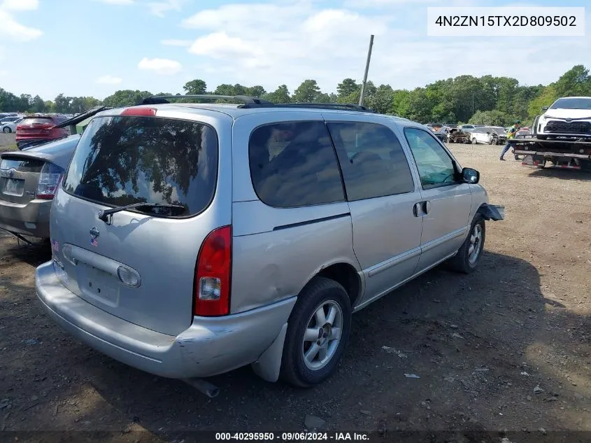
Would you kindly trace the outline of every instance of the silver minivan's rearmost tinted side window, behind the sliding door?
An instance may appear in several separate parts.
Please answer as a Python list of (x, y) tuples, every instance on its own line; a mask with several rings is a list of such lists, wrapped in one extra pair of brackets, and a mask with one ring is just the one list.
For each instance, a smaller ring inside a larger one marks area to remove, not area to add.
[(343, 202), (341, 172), (324, 122), (264, 125), (250, 135), (250, 176), (276, 208)]

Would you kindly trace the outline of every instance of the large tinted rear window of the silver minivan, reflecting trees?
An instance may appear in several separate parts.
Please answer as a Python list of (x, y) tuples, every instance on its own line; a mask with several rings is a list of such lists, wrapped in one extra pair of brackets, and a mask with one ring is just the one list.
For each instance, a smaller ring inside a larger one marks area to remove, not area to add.
[[(218, 135), (202, 123), (149, 117), (94, 118), (64, 178), (77, 197), (123, 206), (164, 203), (194, 216), (210, 204), (218, 177)], [(138, 209), (162, 216), (162, 209)]]

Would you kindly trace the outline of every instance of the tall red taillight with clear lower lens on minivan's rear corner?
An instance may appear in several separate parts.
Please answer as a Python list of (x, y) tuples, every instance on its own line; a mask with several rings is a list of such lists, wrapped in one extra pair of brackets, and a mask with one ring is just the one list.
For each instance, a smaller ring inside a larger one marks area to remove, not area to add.
[(232, 228), (223, 226), (208, 234), (197, 258), (194, 288), (196, 316), (225, 316), (230, 309)]

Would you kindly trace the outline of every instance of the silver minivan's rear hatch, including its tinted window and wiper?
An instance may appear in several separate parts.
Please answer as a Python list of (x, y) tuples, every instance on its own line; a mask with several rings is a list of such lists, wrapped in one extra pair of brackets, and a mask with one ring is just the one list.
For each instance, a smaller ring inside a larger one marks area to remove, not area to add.
[[(208, 210), (217, 178), (212, 127), (155, 116), (95, 117), (52, 206), (62, 284), (119, 318), (178, 335), (193, 317), (199, 248), (217, 227)], [(99, 218), (101, 211), (137, 203), (169, 206)]]

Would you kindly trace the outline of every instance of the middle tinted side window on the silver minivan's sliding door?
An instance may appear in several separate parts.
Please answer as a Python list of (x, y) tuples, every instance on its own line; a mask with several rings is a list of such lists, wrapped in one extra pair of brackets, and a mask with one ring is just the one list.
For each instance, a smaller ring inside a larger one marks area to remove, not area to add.
[(331, 122), (350, 201), (412, 192), (411, 169), (398, 137), (383, 125)]

